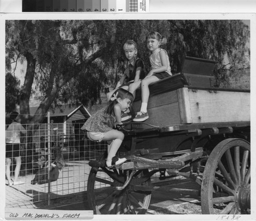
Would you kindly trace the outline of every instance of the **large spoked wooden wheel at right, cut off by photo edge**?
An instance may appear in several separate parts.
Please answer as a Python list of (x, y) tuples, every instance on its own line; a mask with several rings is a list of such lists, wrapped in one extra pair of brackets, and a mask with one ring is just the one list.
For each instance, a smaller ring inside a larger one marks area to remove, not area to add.
[(250, 213), (250, 144), (220, 142), (205, 165), (201, 187), (203, 214)]

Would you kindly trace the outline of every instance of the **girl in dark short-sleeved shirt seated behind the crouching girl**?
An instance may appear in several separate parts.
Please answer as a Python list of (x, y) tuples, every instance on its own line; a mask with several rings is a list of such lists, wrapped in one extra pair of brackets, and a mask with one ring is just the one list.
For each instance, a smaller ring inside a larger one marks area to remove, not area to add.
[[(141, 79), (145, 77), (143, 61), (137, 57), (137, 43), (134, 40), (127, 40), (124, 43), (123, 50), (127, 58), (123, 64), (123, 73), (117, 82), (116, 88), (106, 94), (107, 101), (110, 100), (111, 96), (120, 87), (129, 91), (135, 97), (135, 91), (139, 88)], [(130, 111), (127, 110), (127, 112), (122, 115), (122, 121), (129, 120), (131, 117)]]

